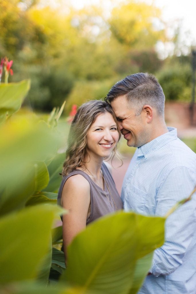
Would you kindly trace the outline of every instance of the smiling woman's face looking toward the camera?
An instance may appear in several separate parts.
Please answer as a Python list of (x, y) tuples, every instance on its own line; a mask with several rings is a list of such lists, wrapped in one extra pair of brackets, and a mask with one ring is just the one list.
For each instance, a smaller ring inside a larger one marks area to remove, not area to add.
[(86, 151), (90, 157), (109, 157), (119, 139), (117, 125), (109, 112), (97, 116), (87, 133)]

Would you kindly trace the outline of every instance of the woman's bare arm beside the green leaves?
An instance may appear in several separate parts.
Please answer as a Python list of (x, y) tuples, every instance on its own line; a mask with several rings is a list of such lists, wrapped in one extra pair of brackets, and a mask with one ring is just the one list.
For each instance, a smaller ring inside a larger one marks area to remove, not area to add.
[(63, 248), (84, 228), (90, 206), (90, 185), (82, 175), (74, 175), (67, 179), (61, 196), (61, 205), (68, 210), (63, 215)]

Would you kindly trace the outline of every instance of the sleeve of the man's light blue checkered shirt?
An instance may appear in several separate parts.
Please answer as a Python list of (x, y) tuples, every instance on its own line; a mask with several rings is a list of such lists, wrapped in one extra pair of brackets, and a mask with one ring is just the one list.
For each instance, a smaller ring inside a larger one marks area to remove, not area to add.
[[(187, 167), (170, 171), (157, 191), (156, 215), (164, 216), (178, 201), (187, 198), (195, 187), (196, 175)], [(182, 264), (183, 256), (196, 230), (196, 193), (177, 208), (165, 222), (165, 243), (154, 251), (150, 270), (155, 276), (169, 275)]]

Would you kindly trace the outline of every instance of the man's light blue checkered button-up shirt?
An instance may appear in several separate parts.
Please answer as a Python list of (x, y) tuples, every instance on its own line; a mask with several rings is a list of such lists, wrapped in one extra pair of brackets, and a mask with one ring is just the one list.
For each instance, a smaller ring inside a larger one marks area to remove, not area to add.
[[(169, 132), (136, 149), (121, 197), (125, 211), (164, 216), (196, 185), (196, 154)], [(196, 193), (167, 218), (165, 243), (139, 294), (196, 294)]]

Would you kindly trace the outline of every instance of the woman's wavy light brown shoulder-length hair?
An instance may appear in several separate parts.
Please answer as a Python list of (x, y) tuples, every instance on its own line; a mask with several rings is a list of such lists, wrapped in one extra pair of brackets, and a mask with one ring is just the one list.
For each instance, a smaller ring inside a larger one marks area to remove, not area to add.
[[(86, 144), (87, 144), (87, 133), (91, 125), (96, 120), (97, 116), (101, 113), (111, 113), (113, 119), (117, 125), (119, 139), (120, 140), (120, 129), (115, 114), (111, 106), (102, 100), (92, 100), (82, 104), (71, 123), (71, 128), (68, 135), (68, 147), (66, 149), (66, 160), (63, 163), (62, 176), (68, 175), (71, 171), (83, 165), (84, 159), (87, 155)], [(120, 154), (117, 148), (113, 149), (110, 158), (116, 155), (120, 159)]]

